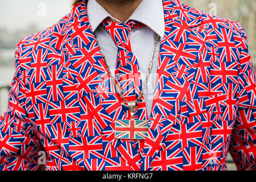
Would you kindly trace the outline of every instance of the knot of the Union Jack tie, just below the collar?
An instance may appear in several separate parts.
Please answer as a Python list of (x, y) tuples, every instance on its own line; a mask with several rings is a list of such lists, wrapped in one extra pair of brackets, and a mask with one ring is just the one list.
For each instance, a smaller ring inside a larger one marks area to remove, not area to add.
[(117, 47), (130, 50), (129, 34), (135, 26), (139, 26), (137, 23), (138, 22), (135, 20), (129, 20), (127, 23), (119, 23), (110, 22), (109, 20), (105, 19), (102, 22), (102, 26), (109, 33)]

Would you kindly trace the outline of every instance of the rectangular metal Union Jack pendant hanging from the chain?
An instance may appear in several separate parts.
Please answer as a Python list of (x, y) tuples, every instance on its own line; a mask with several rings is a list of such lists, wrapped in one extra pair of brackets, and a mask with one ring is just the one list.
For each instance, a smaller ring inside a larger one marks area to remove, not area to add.
[(116, 139), (146, 139), (148, 120), (117, 120), (115, 121)]

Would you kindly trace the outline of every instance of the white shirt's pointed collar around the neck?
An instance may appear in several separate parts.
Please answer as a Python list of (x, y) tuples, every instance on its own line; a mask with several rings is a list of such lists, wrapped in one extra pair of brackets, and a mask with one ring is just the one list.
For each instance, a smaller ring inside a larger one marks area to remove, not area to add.
[[(105, 18), (113, 18), (96, 0), (88, 1), (87, 14), (93, 32)], [(163, 38), (165, 25), (162, 0), (142, 0), (129, 19), (145, 24)]]

